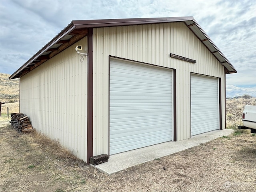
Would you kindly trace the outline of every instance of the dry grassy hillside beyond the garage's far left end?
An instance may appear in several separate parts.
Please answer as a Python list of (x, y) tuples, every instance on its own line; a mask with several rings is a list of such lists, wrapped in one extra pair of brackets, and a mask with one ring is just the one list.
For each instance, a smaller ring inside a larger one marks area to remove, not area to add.
[(20, 79), (9, 80), (10, 74), (0, 73), (0, 102), (13, 103), (20, 99)]

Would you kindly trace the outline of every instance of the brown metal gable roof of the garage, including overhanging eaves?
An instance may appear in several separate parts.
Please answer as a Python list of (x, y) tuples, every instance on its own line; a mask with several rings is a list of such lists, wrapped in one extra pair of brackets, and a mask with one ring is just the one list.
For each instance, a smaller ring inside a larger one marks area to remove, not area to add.
[(88, 34), (88, 28), (99, 28), (109, 26), (126, 26), (141, 24), (156, 24), (165, 22), (184, 22), (188, 28), (202, 41), (202, 43), (212, 52), (212, 54), (227, 69), (228, 73), (236, 73), (236, 69), (222, 54), (218, 47), (212, 42), (207, 34), (202, 30), (193, 17), (169, 17), (169, 18), (132, 18), (132, 19), (109, 19), (109, 20), (76, 20), (72, 21), (48, 44), (39, 50), (23, 66), (21, 66), (9, 78), (19, 78), (27, 72), (33, 70), (46, 60), (52, 58), (71, 44), (82, 39)]

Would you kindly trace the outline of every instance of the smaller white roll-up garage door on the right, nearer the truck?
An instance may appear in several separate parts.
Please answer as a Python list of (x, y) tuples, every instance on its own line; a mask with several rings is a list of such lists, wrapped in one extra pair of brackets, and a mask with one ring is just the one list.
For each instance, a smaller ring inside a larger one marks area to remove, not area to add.
[(219, 128), (218, 78), (191, 75), (191, 136)]

